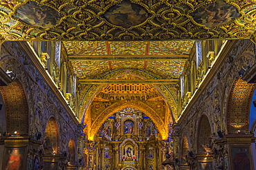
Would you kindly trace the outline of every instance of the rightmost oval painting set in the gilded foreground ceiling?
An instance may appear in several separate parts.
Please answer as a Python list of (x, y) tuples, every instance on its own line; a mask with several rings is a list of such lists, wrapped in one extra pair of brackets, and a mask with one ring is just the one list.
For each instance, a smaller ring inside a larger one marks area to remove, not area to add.
[(240, 16), (235, 6), (223, 0), (201, 6), (190, 15), (196, 23), (205, 25), (207, 28), (224, 25)]

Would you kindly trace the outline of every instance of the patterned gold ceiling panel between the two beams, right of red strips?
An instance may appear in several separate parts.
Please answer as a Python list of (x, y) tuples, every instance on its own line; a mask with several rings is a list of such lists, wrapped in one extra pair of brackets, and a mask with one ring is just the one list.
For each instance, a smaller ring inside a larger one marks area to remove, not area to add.
[(148, 61), (147, 70), (161, 75), (163, 79), (179, 78), (182, 74), (185, 60), (181, 61)]

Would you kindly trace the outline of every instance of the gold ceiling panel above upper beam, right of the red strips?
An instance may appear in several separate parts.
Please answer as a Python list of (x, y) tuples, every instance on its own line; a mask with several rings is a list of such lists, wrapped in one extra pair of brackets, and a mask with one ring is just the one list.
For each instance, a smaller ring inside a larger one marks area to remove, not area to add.
[(188, 55), (194, 41), (152, 41), (149, 55)]

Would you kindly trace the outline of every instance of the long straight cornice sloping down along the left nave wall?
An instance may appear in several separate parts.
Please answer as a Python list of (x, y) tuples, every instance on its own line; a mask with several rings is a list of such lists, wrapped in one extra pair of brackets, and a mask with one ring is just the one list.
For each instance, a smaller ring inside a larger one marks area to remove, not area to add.
[(71, 110), (71, 108), (66, 103), (66, 100), (64, 99), (64, 97), (60, 93), (59, 89), (57, 89), (55, 83), (51, 79), (51, 76), (48, 74), (48, 72), (46, 72), (46, 70), (44, 69), (44, 67), (40, 63), (40, 61), (37, 59), (37, 54), (35, 54), (35, 52), (32, 50), (30, 44), (28, 42), (25, 42), (25, 41), (18, 41), (17, 43), (24, 49), (24, 52), (27, 54), (28, 58), (33, 63), (33, 65), (36, 67), (39, 74), (41, 74), (41, 76), (44, 78), (44, 81), (46, 81), (46, 84), (53, 90), (53, 93), (55, 94), (57, 99), (60, 101), (60, 103), (64, 107), (64, 109), (66, 109), (69, 116), (71, 116), (74, 123), (76, 125), (78, 125), (79, 122), (78, 122), (77, 118), (75, 117), (75, 114), (73, 114), (73, 111)]

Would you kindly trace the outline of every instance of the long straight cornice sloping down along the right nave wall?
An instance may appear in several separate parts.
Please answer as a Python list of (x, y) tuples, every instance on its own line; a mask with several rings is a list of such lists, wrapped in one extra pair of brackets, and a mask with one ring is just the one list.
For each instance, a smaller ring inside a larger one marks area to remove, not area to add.
[(201, 85), (199, 86), (199, 89), (196, 90), (196, 92), (192, 96), (192, 99), (183, 110), (183, 114), (178, 120), (179, 125), (183, 122), (184, 118), (188, 115), (188, 113), (190, 112), (190, 109), (192, 109), (192, 107), (198, 100), (199, 96), (201, 96), (205, 87), (208, 86), (208, 84), (210, 83), (214, 75), (217, 74), (219, 67), (223, 63), (224, 59), (226, 59), (226, 56), (229, 54), (229, 52), (232, 50), (232, 46), (235, 45), (237, 41), (239, 40), (229, 40), (226, 43), (226, 45), (221, 49), (219, 54), (217, 54), (218, 58), (216, 59), (216, 61), (214, 61), (214, 65), (212, 65), (210, 71), (206, 73), (205, 78), (203, 79), (203, 81), (201, 82)]

